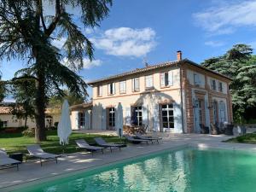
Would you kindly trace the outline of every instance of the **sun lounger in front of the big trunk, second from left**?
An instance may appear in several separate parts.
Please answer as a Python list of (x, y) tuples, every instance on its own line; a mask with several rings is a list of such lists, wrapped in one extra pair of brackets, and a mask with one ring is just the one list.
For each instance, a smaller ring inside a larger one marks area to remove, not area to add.
[(41, 166), (43, 166), (43, 162), (48, 162), (48, 161), (53, 161), (53, 160), (55, 160), (56, 163), (58, 163), (58, 157), (60, 155), (46, 153), (40, 147), (40, 145), (29, 145), (29, 146), (26, 146), (26, 149), (29, 153), (29, 154), (26, 154), (26, 160), (28, 157), (37, 158), (40, 160)]

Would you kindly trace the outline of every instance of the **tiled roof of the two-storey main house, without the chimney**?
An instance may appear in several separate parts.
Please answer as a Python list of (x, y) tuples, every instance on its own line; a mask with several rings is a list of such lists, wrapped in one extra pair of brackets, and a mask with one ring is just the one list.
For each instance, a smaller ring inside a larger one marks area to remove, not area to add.
[(210, 69), (208, 69), (206, 67), (202, 67), (201, 65), (199, 65), (199, 64), (197, 64), (197, 63), (195, 63), (193, 61), (189, 61), (188, 59), (183, 59), (181, 61), (166, 61), (166, 62), (158, 63), (156, 65), (148, 66), (148, 67), (137, 68), (136, 70), (133, 70), (133, 71), (130, 71), (130, 72), (116, 74), (116, 75), (109, 76), (109, 77), (103, 78), (103, 79), (96, 79), (96, 80), (91, 81), (91, 82), (89, 82), (87, 84), (96, 84), (96, 83), (100, 83), (100, 82), (108, 81), (108, 80), (112, 80), (112, 79), (119, 79), (119, 78), (122, 78), (122, 77), (125, 77), (125, 76), (129, 76), (129, 75), (132, 75), (132, 74), (143, 73), (143, 72), (148, 72), (148, 71), (151, 71), (151, 70), (154, 70), (154, 69), (158, 69), (158, 68), (170, 67), (170, 66), (178, 65), (178, 64), (181, 64), (183, 62), (187, 62), (190, 65), (193, 65), (195, 67), (200, 67), (201, 69), (207, 70), (207, 71), (209, 71), (211, 73), (215, 73), (215, 74), (217, 74), (219, 76), (224, 77), (225, 79), (230, 79), (227, 76), (224, 76), (224, 75), (222, 75), (220, 73), (214, 72), (214, 71), (212, 71), (212, 70), (210, 70)]

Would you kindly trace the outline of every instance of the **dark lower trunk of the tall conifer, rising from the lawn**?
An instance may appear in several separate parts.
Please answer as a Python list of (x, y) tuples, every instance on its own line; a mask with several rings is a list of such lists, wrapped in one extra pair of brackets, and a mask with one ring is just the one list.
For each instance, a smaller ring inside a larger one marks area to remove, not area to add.
[(37, 142), (46, 141), (45, 134), (45, 81), (44, 72), (38, 72), (37, 93), (35, 101), (36, 130), (35, 137)]

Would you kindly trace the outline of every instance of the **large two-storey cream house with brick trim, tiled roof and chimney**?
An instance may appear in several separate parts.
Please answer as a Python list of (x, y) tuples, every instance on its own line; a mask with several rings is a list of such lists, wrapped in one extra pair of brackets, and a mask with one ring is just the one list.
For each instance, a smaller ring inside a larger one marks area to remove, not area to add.
[(73, 129), (116, 130), (120, 104), (124, 125), (199, 133), (201, 124), (232, 122), (230, 80), (177, 51), (177, 61), (90, 82), (92, 102), (72, 107)]

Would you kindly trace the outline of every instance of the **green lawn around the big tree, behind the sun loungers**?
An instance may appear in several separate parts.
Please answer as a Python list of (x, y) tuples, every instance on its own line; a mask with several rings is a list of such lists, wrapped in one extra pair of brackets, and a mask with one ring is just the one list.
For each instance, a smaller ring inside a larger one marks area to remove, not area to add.
[[(85, 133), (72, 133), (69, 137), (69, 144), (64, 147), (66, 154), (74, 153), (79, 150), (76, 149), (75, 139), (84, 138), (88, 143), (95, 143), (94, 137), (99, 135), (85, 134)], [(121, 140), (115, 136), (100, 136), (103, 137), (109, 143), (119, 143)], [(8, 154), (26, 152), (26, 145), (35, 144), (34, 137), (23, 137), (21, 133), (0, 133), (0, 148), (5, 148)], [(61, 154), (62, 146), (57, 136), (57, 131), (47, 131), (47, 141), (38, 143), (44, 149), (45, 152)]]

